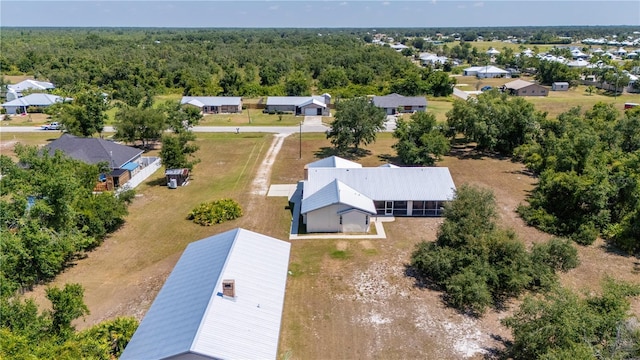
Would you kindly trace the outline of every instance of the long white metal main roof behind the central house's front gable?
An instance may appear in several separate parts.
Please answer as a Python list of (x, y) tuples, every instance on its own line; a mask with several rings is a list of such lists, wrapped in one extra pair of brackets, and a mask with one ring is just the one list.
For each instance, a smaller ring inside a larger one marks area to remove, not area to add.
[(304, 183), (306, 199), (340, 180), (374, 201), (453, 200), (455, 184), (446, 167), (311, 168)]

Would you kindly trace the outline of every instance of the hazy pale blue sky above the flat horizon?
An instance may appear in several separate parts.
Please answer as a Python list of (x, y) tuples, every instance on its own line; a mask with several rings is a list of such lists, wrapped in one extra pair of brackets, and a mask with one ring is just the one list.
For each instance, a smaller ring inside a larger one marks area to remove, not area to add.
[(638, 25), (640, 1), (2, 0), (0, 26), (465, 27)]

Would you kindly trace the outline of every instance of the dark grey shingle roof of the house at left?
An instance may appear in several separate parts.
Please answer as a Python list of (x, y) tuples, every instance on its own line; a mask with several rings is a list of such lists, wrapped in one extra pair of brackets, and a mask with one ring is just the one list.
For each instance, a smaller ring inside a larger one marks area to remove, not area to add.
[(44, 147), (53, 155), (56, 150), (62, 151), (72, 159), (97, 164), (106, 161), (112, 169), (120, 168), (129, 161), (142, 155), (143, 151), (130, 146), (116, 144), (97, 138), (82, 138), (70, 134), (62, 134), (58, 139)]

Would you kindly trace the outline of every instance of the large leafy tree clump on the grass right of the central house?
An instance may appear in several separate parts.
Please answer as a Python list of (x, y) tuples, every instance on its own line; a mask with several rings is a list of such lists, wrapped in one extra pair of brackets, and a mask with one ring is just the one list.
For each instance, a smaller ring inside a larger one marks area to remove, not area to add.
[(491, 191), (463, 186), (445, 209), (436, 242), (418, 244), (411, 258), (450, 306), (474, 315), (525, 290), (550, 289), (556, 271), (578, 265), (569, 240), (554, 238), (528, 252), (513, 231), (496, 226), (496, 216)]

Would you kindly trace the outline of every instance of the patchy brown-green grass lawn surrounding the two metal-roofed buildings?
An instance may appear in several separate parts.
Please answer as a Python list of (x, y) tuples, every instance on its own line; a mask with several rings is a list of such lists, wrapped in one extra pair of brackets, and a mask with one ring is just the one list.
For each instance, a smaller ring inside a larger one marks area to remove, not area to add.
[[(294, 183), (303, 177), (304, 164), (332, 153), (324, 134), (302, 134), (301, 151), (298, 136), (284, 140), (271, 183)], [(30, 143), (47, 140), (32, 134), (16, 137)], [(77, 326), (118, 315), (142, 318), (191, 241), (237, 226), (286, 239), (291, 219), (286, 199), (249, 191), (272, 139), (263, 134), (198, 134), (203, 161), (188, 186), (169, 190), (160, 185), (164, 181), (158, 172), (138, 188), (125, 226), (54, 282), (85, 287), (91, 315)], [(367, 147), (369, 153), (356, 161), (377, 166), (393, 160), (393, 142), (391, 134), (380, 134)], [(549, 238), (526, 226), (514, 211), (536, 181), (521, 164), (456, 148), (438, 165), (450, 168), (457, 185), (491, 188), (500, 222), (528, 245)], [(239, 201), (245, 215), (212, 227), (185, 220), (198, 203), (221, 197)], [(440, 293), (416, 286), (405, 273), (415, 244), (434, 240), (441, 221), (400, 218), (385, 223), (385, 240), (293, 241), (279, 358), (482, 358), (486, 349), (500, 347), (495, 338), (509, 338), (500, 319), (511, 310), (468, 318), (446, 308)], [(578, 251), (582, 263), (561, 276), (564, 285), (595, 290), (605, 275), (640, 282), (636, 258), (607, 252), (602, 242)], [(30, 296), (43, 303), (43, 294), (44, 287), (38, 287)], [(640, 301), (633, 306), (639, 314)]]

